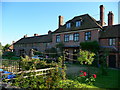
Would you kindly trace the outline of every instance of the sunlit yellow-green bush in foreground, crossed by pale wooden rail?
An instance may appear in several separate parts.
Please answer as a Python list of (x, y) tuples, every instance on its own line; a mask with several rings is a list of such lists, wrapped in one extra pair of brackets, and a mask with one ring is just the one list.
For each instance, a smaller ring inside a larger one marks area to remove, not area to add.
[[(40, 61), (39, 59), (30, 59), (29, 57), (22, 58), (21, 61), (23, 70), (34, 70), (37, 68), (45, 67), (48, 64), (45, 61)], [(25, 88), (25, 89), (40, 89), (40, 88), (56, 88), (54, 84), (58, 83), (60, 80), (65, 79), (65, 68), (62, 66), (62, 57), (59, 58), (58, 64), (52, 62), (49, 65), (55, 66), (55, 69), (50, 70), (45, 76), (35, 76), (35, 72), (32, 73), (22, 73), (18, 75), (15, 79), (13, 85)], [(28, 78), (23, 78), (24, 75)], [(31, 77), (31, 75), (33, 75)]]

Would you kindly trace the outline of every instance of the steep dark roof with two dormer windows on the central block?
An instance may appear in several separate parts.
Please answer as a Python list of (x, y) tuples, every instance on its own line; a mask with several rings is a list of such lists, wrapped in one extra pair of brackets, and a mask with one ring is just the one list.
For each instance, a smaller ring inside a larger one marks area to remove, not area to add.
[[(76, 27), (75, 23), (76, 21), (79, 21), (79, 20), (81, 20), (81, 26)], [(71, 23), (71, 28), (66, 29), (66, 24), (69, 22)], [(91, 17), (88, 14), (85, 14), (85, 15), (76, 16), (73, 19), (67, 21), (63, 26), (55, 30), (53, 33), (77, 31), (77, 30), (84, 30), (84, 29), (91, 29), (91, 28), (102, 28), (102, 27), (97, 23), (97, 21), (93, 17)]]

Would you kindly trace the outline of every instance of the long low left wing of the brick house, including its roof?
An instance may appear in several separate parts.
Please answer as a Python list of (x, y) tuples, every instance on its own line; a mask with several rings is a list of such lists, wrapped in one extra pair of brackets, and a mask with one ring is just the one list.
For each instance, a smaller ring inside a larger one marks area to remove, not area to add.
[(24, 35), (23, 38), (14, 43), (14, 51), (17, 56), (21, 56), (23, 53), (30, 56), (32, 49), (44, 52), (46, 49), (51, 48), (51, 42), (51, 31), (48, 31), (48, 34), (46, 35), (34, 34), (32, 37)]

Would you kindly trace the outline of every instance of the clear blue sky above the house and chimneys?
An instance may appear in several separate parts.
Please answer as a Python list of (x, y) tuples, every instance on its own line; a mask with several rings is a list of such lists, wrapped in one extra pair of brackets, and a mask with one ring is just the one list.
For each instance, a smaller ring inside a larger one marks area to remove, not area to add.
[(11, 44), (25, 34), (33, 36), (47, 34), (58, 28), (58, 16), (64, 23), (75, 16), (89, 14), (99, 20), (99, 6), (105, 6), (105, 22), (109, 11), (114, 13), (114, 24), (118, 23), (117, 2), (3, 2), (2, 45)]

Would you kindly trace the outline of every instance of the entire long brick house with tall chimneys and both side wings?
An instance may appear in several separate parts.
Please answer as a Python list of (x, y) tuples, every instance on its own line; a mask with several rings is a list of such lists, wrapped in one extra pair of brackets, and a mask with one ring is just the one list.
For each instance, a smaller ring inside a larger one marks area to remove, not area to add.
[(100, 5), (99, 21), (89, 14), (84, 14), (63, 24), (64, 17), (59, 16), (58, 29), (54, 32), (49, 31), (47, 35), (40, 36), (35, 34), (33, 37), (24, 36), (14, 43), (16, 54), (21, 55), (24, 52), (29, 55), (31, 49), (44, 52), (47, 48), (55, 47), (60, 42), (64, 43), (65, 51), (75, 54), (80, 48), (80, 42), (98, 41), (103, 49), (110, 50), (110, 56), (107, 59), (109, 66), (120, 67), (120, 25), (113, 25), (114, 14), (109, 12), (108, 26), (105, 26), (104, 9), (104, 6)]

